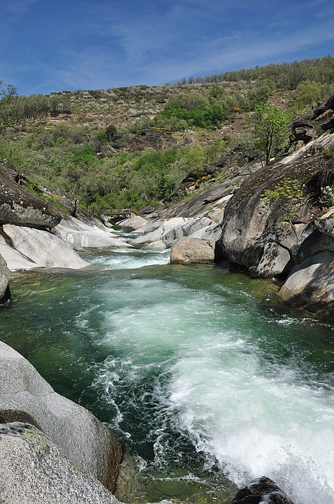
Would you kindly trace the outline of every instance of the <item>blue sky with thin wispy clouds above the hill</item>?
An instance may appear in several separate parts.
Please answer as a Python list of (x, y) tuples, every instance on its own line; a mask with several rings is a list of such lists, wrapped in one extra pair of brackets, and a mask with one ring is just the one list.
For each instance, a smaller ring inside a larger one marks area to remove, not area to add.
[(20, 94), (157, 85), (334, 55), (333, 0), (0, 0)]

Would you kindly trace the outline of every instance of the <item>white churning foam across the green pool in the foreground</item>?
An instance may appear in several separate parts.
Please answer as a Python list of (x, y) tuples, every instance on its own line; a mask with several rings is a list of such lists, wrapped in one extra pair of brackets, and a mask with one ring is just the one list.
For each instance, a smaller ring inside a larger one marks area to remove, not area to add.
[[(152, 279), (128, 281), (117, 295), (99, 344), (118, 357), (103, 363), (97, 381), (110, 400), (110, 386), (118, 394), (141, 388), (128, 399), (138, 416), (145, 403), (154, 408), (143, 421), (151, 423), (157, 467), (170, 455), (173, 430), (205, 456), (206, 470), (218, 467), (238, 486), (267, 475), (297, 504), (334, 503), (333, 388), (307, 379), (298, 355), (289, 365), (266, 356), (247, 328), (252, 306), (226, 304), (231, 292), (224, 300)], [(259, 333), (296, 322), (260, 317)]]

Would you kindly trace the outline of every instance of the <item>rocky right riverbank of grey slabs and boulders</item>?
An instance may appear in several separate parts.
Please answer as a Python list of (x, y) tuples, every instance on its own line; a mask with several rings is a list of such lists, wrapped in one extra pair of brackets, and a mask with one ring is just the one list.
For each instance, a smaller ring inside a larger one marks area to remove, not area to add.
[(134, 246), (171, 248), (172, 262), (225, 258), (251, 276), (274, 278), (291, 307), (333, 314), (334, 207), (323, 201), (333, 183), (333, 120), (331, 97), (293, 122), (284, 158), (263, 167), (236, 148), (217, 163), (223, 179), (198, 192), (188, 177), (175, 190), (194, 194), (187, 202), (120, 224), (143, 234)]

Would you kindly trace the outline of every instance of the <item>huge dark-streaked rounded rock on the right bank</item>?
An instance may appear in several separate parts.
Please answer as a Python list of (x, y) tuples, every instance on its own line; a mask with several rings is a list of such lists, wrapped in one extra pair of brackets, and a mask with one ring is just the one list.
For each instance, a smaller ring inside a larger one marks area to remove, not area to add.
[[(319, 211), (321, 150), (333, 142), (331, 135), (310, 141), (281, 162), (249, 176), (236, 191), (226, 205), (222, 223), (224, 252), (231, 262), (244, 267), (253, 276), (271, 277), (289, 272), (293, 266), (291, 248)], [(311, 151), (309, 157), (307, 153)], [(273, 189), (286, 179), (298, 180), (305, 191), (305, 202), (292, 223), (284, 221), (279, 204), (261, 200), (266, 189)]]

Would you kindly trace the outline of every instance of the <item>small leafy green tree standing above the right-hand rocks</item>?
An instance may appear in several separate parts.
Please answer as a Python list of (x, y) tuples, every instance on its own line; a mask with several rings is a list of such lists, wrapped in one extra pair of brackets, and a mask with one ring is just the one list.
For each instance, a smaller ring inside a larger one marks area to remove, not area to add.
[(249, 116), (254, 134), (255, 148), (265, 153), (268, 165), (273, 151), (283, 148), (286, 141), (289, 116), (268, 102), (254, 106), (254, 113)]

